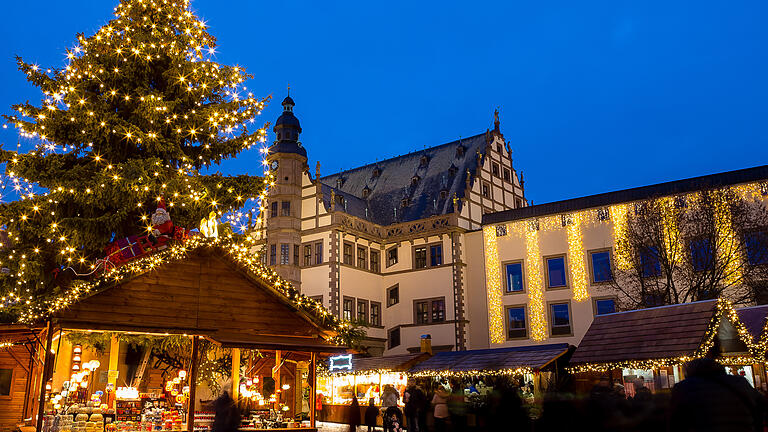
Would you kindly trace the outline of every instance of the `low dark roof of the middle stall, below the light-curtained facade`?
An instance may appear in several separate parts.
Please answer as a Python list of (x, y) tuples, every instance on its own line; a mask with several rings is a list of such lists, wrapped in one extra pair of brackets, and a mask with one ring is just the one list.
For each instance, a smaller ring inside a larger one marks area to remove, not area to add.
[(501, 371), (528, 367), (541, 369), (568, 352), (565, 343), (437, 353), (412, 367), (409, 373)]

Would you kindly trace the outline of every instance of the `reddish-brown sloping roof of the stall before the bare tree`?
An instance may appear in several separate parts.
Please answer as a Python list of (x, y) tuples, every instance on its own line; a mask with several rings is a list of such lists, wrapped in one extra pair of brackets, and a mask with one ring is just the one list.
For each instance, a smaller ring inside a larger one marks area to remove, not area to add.
[(570, 363), (691, 356), (704, 342), (717, 300), (598, 315)]

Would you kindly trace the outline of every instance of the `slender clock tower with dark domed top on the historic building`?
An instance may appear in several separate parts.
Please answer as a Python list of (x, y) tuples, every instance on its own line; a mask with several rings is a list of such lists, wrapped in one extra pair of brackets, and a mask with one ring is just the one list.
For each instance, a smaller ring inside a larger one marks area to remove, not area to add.
[(266, 264), (294, 287), (301, 289), (301, 183), (309, 170), (307, 151), (299, 142), (301, 125), (293, 114), (296, 104), (283, 100), (283, 113), (272, 129), (277, 135), (269, 147), (267, 164), (275, 185), (267, 196)]

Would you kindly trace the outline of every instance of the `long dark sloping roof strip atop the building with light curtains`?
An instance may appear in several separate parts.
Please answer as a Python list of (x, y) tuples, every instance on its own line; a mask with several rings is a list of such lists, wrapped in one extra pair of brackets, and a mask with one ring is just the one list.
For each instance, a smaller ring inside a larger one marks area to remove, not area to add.
[(768, 165), (488, 213), (483, 215), (483, 225), (765, 180), (768, 180)]

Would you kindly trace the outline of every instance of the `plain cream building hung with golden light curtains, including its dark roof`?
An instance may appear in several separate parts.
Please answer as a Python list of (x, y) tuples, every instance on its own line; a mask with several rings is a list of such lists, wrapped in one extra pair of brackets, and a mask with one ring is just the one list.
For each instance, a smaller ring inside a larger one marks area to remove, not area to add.
[[(623, 300), (624, 294), (612, 282), (614, 271), (633, 265), (627, 262), (632, 257), (617, 250), (622, 244), (617, 239), (625, 236), (627, 214), (642, 212), (649, 200), (685, 208), (694, 205), (700, 191), (721, 188), (729, 188), (747, 203), (764, 206), (768, 166), (485, 215), (482, 230), (467, 235), (470, 254), (483, 256), (467, 262), (469, 295), (486, 299), (485, 305), (470, 304), (468, 311), (475, 346), (481, 346), (484, 337), (485, 346), (491, 348), (554, 342), (578, 345), (594, 316), (617, 311), (617, 302)], [(768, 265), (765, 222), (765, 216), (756, 217), (754, 229), (735, 239), (743, 247), (734, 252), (738, 256), (729, 258), (734, 273)], [(717, 234), (732, 235), (728, 229)], [(667, 247), (675, 248), (680, 260), (693, 259), (694, 267), (696, 257), (690, 254), (701, 251), (701, 268), (693, 270), (704, 273), (708, 261), (702, 244), (700, 238), (682, 235)], [(722, 244), (735, 243), (723, 239)], [(661, 276), (654, 254), (639, 261), (643, 261), (640, 271), (647, 273), (643, 277)], [(757, 274), (764, 277), (765, 271)]]

